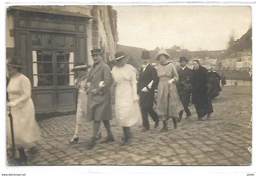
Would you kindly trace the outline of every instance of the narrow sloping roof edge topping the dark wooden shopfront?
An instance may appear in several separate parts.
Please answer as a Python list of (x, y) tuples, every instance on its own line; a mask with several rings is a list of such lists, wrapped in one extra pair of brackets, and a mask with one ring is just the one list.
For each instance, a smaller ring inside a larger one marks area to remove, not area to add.
[[(81, 18), (91, 18), (91, 16), (85, 15), (80, 12), (71, 12), (68, 10), (60, 10), (57, 8), (51, 8), (51, 7), (56, 7), (53, 5), (34, 5), (34, 6), (28, 6), (28, 5), (20, 5), (20, 6), (10, 6), (7, 10), (25, 10), (25, 11), (30, 11), (30, 12), (40, 12), (40, 13), (51, 13), (54, 15), (66, 15), (66, 16), (76, 16), (76, 17), (81, 17)], [(59, 6), (60, 8), (64, 9), (62, 6)], [(65, 8), (68, 9), (68, 8)]]

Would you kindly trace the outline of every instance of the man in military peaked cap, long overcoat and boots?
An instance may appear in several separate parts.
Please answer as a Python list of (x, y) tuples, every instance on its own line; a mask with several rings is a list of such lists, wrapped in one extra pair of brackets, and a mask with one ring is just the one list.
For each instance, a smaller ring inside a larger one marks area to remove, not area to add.
[(110, 67), (102, 60), (101, 49), (91, 50), (93, 67), (88, 73), (88, 118), (93, 120), (93, 135), (88, 141), (88, 149), (92, 149), (98, 136), (101, 121), (107, 130), (107, 138), (101, 143), (113, 142), (109, 120), (112, 119), (110, 86), (113, 83)]

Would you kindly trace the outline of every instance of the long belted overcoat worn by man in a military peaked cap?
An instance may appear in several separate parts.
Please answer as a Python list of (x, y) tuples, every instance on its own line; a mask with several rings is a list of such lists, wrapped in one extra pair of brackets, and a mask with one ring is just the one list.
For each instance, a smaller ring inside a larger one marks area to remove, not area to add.
[[(99, 83), (104, 81), (105, 87), (99, 87)], [(112, 119), (112, 106), (110, 87), (112, 86), (112, 74), (110, 67), (103, 61), (95, 67), (91, 67), (88, 73), (88, 81), (91, 83), (88, 89), (88, 120), (101, 121)], [(90, 90), (96, 89), (97, 95), (92, 95)]]

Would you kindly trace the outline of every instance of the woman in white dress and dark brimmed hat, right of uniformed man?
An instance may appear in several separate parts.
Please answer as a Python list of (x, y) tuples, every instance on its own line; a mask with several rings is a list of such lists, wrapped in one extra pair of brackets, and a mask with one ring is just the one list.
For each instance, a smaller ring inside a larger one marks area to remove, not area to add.
[(124, 52), (115, 54), (116, 66), (112, 75), (116, 81), (115, 113), (119, 126), (123, 127), (124, 138), (120, 145), (129, 143), (130, 127), (140, 126), (142, 116), (138, 104), (136, 69), (126, 64)]

